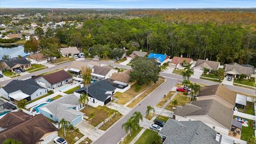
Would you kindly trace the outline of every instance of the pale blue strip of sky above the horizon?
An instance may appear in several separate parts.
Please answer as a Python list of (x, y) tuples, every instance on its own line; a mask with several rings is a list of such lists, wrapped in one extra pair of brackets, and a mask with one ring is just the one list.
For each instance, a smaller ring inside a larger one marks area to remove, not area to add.
[(0, 0), (1, 8), (255, 8), (256, 0)]

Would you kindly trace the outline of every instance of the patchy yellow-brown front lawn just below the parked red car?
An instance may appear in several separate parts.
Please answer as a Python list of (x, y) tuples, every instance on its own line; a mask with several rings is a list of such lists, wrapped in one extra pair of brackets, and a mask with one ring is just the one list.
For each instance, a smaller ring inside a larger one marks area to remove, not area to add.
[[(178, 101), (178, 105), (174, 106), (172, 104), (172, 101), (177, 100)], [(171, 110), (174, 111), (175, 109), (173, 109), (173, 107), (177, 107), (177, 106), (184, 106), (186, 103), (188, 103), (190, 101), (190, 98), (187, 97), (187, 95), (185, 95), (182, 92), (178, 92), (177, 95), (175, 95), (175, 97), (172, 100), (165, 109), (167, 110)]]

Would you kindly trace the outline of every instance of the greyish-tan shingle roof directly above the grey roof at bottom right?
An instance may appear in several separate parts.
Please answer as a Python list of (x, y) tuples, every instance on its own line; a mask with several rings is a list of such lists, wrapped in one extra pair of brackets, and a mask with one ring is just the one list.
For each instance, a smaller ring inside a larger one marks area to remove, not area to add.
[(233, 110), (215, 100), (193, 101), (191, 104), (187, 103), (184, 107), (178, 106), (174, 111), (175, 115), (185, 117), (207, 115), (229, 130), (231, 129), (233, 113)]

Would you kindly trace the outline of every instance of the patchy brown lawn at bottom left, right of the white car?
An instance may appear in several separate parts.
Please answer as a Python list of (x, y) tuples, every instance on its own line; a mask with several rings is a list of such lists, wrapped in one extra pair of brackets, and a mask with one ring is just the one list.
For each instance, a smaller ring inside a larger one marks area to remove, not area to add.
[(75, 143), (76, 137), (81, 139), (84, 136), (81, 132), (79, 132), (78, 129), (74, 130), (74, 131), (70, 131), (70, 132), (67, 132), (67, 130), (66, 130), (66, 137), (64, 137), (63, 130), (62, 131), (59, 130), (58, 135), (59, 135), (59, 137), (64, 138), (68, 143)]

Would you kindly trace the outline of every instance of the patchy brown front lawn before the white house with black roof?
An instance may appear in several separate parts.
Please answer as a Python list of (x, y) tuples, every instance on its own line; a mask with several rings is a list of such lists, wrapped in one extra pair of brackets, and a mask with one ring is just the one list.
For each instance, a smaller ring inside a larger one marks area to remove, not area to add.
[(109, 115), (114, 113), (113, 109), (110, 109), (106, 106), (104, 107), (98, 106), (94, 108), (88, 105), (88, 106), (85, 106), (85, 108), (81, 109), (80, 111), (88, 117), (90, 116), (90, 114), (94, 113), (94, 117), (92, 118), (92, 120), (90, 120), (91, 122), (89, 121), (89, 123), (94, 127), (100, 124), (101, 122), (103, 122), (103, 120), (108, 118)]

